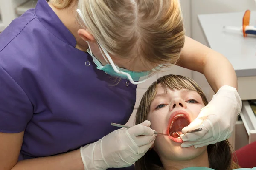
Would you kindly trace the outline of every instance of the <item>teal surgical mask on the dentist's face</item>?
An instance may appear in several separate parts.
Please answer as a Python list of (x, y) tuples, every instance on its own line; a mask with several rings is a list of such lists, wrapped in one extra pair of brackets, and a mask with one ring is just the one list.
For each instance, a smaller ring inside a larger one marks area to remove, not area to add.
[[(83, 15), (81, 14), (81, 11), (79, 9), (77, 9), (76, 11), (78, 12), (81, 19), (85, 23), (85, 20), (83, 18)], [(105, 71), (106, 74), (109, 74), (109, 75), (114, 76), (114, 77), (120, 77), (122, 79), (128, 79), (134, 85), (145, 82), (147, 79), (149, 79), (151, 76), (153, 76), (158, 69), (160, 69), (160, 66), (158, 66), (157, 68), (154, 68), (150, 71), (136, 72), (136, 71), (130, 71), (130, 70), (127, 70), (127, 69), (124, 69), (124, 68), (119, 68), (118, 66), (116, 66), (114, 64), (113, 60), (111, 59), (110, 55), (105, 50), (105, 48), (103, 48), (101, 45), (98, 44), (99, 49), (102, 53), (102, 56), (104, 57), (105, 61), (108, 63), (108, 64), (103, 66), (101, 64), (101, 62), (99, 62), (99, 60), (95, 56), (93, 56), (89, 43), (88, 43), (88, 46), (89, 46), (89, 49), (87, 50), (87, 52), (93, 57), (93, 62), (96, 64), (97, 69)], [(107, 59), (105, 57), (107, 57)]]

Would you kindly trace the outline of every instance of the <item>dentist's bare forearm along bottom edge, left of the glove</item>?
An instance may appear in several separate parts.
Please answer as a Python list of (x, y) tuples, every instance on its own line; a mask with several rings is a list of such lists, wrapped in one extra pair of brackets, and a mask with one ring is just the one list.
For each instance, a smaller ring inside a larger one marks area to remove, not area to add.
[(84, 164), (78, 149), (56, 156), (19, 161), (12, 170), (84, 170)]

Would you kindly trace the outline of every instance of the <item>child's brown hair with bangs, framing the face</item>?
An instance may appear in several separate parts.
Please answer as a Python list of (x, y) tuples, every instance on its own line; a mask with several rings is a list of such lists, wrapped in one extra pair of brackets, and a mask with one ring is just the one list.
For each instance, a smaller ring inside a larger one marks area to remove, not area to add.
[[(136, 113), (136, 124), (147, 120), (151, 102), (157, 93), (157, 85), (161, 84), (164, 91), (167, 89), (189, 89), (198, 92), (204, 105), (208, 104), (207, 98), (199, 85), (189, 77), (180, 75), (166, 75), (154, 82), (143, 95)], [(232, 147), (227, 140), (207, 146), (209, 167), (216, 170), (231, 170), (239, 168), (232, 161)], [(135, 163), (136, 170), (163, 170), (163, 164), (158, 154), (152, 149)]]

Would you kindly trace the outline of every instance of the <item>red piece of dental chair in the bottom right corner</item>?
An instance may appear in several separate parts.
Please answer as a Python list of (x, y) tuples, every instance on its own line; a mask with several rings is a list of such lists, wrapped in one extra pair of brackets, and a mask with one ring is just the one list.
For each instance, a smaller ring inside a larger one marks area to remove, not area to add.
[(236, 150), (233, 153), (233, 161), (238, 163), (241, 168), (256, 167), (256, 142), (247, 144), (239, 150)]

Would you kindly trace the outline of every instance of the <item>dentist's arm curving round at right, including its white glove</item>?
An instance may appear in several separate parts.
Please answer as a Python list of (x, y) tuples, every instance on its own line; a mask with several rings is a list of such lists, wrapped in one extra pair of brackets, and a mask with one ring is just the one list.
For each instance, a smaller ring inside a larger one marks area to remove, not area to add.
[(181, 52), (181, 67), (198, 71), (206, 77), (215, 95), (198, 117), (182, 129), (183, 133), (195, 128), (201, 132), (182, 136), (182, 147), (202, 147), (230, 137), (241, 111), (241, 98), (237, 92), (237, 78), (233, 66), (220, 53), (186, 37)]

